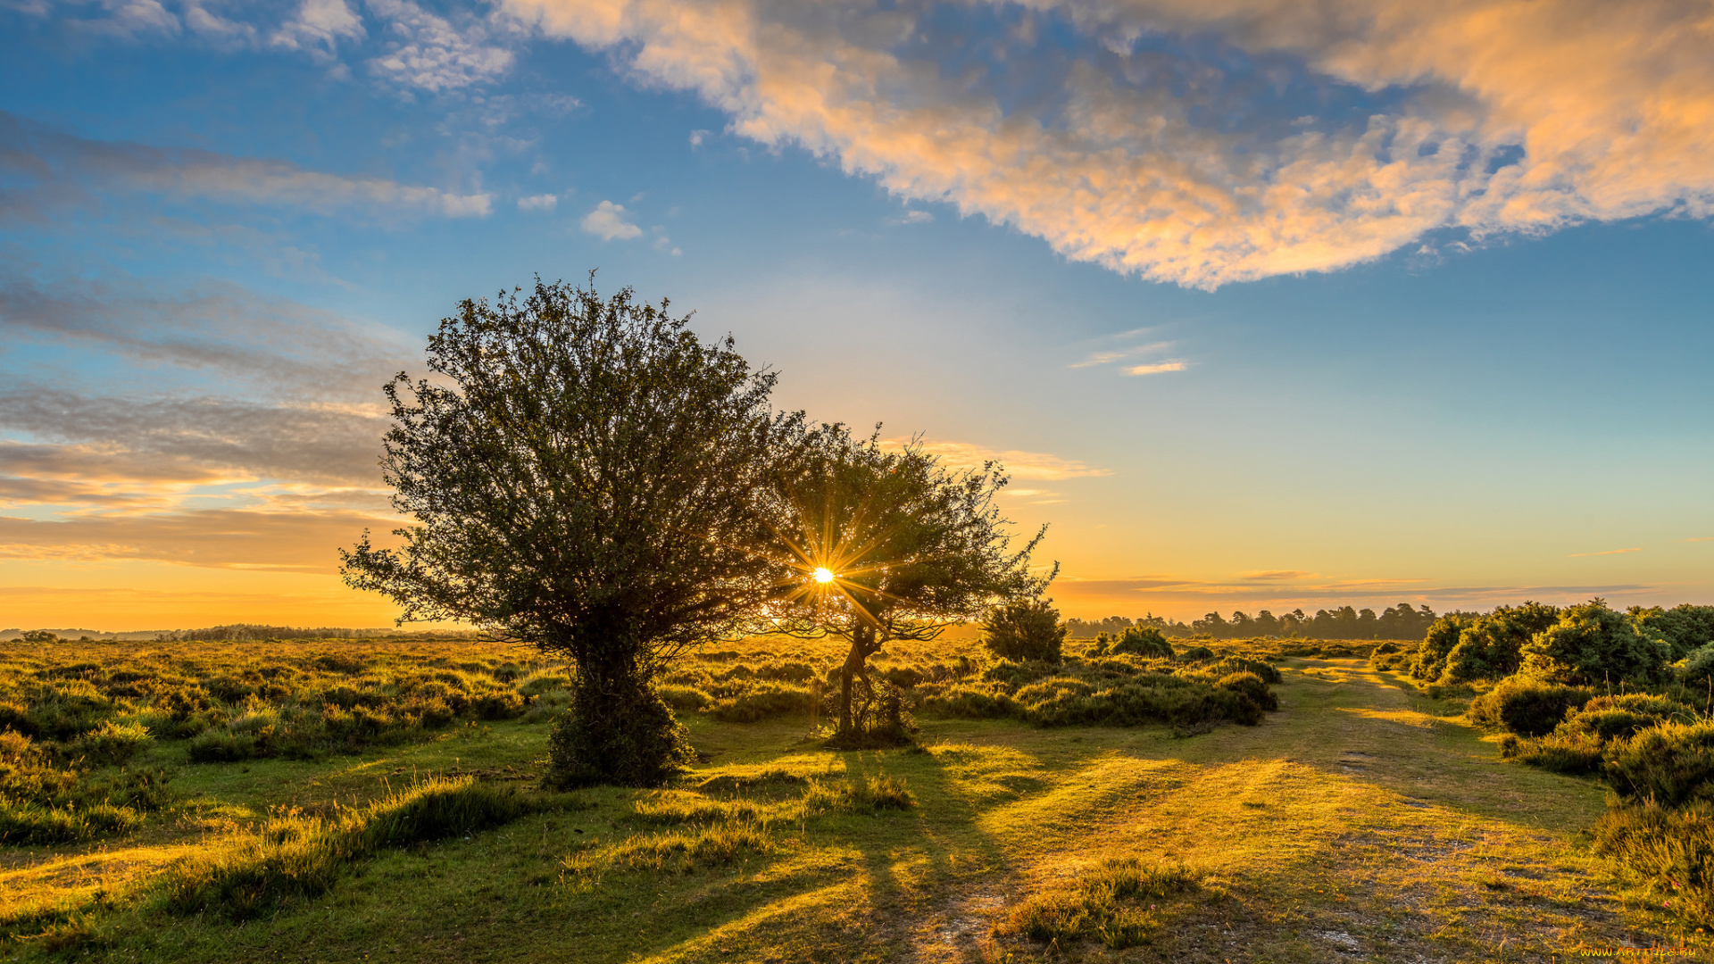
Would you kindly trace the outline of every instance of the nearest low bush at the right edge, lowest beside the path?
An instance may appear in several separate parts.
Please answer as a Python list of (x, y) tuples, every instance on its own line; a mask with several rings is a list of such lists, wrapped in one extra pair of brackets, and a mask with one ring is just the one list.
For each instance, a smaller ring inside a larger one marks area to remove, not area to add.
[(1714, 808), (1613, 806), (1596, 823), (1594, 851), (1613, 858), (1669, 913), (1714, 926)]

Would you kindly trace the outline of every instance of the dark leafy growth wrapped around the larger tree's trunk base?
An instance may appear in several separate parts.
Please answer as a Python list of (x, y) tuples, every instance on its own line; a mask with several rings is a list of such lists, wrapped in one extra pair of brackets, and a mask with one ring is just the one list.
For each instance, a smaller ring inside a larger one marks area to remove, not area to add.
[(605, 683), (605, 693), (591, 693), (579, 678), (548, 738), (547, 784), (656, 787), (682, 772), (694, 753), (660, 693), (641, 681), (627, 690), (615, 679)]

